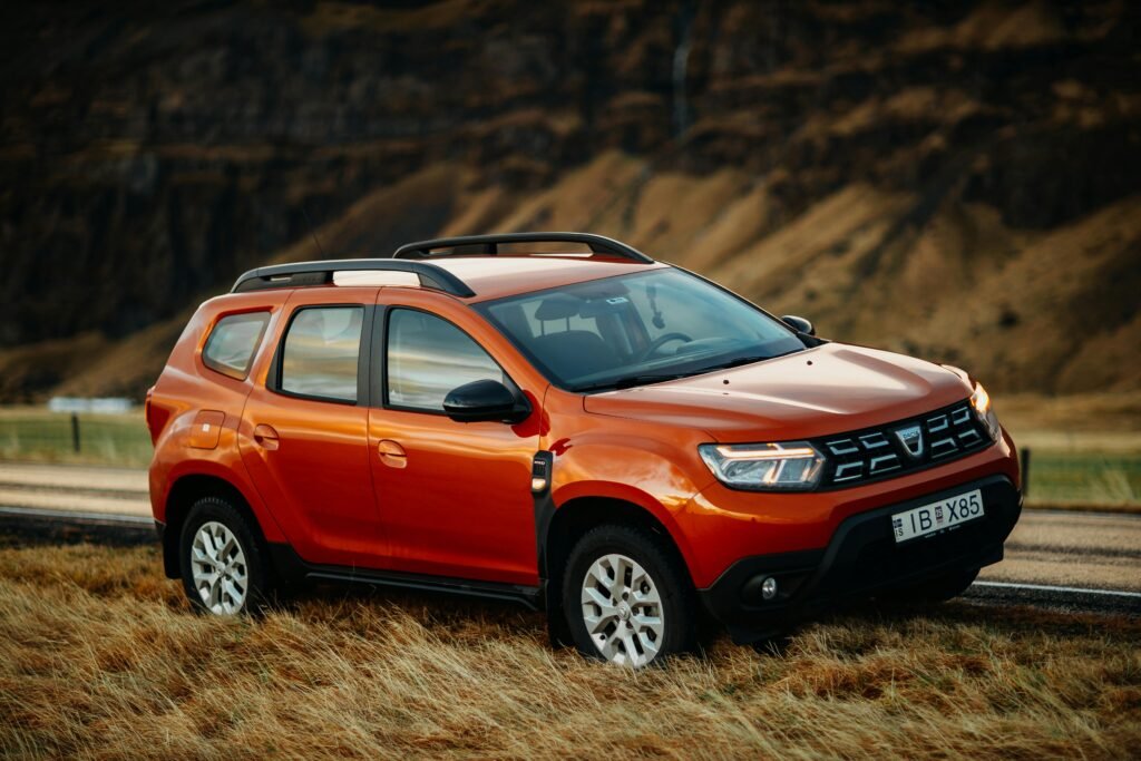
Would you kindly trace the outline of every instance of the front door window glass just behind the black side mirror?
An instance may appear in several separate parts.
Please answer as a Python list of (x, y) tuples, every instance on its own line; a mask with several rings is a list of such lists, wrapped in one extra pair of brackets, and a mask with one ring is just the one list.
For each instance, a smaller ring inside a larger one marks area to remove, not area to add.
[(507, 382), (495, 361), (452, 323), (411, 309), (389, 314), (389, 404), (442, 412), (448, 391), (488, 378)]

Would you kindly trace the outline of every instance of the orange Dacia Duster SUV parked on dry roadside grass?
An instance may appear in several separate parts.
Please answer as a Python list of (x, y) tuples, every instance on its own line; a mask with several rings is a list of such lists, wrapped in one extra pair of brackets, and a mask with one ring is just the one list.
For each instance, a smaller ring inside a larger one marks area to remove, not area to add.
[(586, 234), (248, 272), (146, 419), (165, 572), (195, 606), (306, 578), (501, 598), (633, 666), (709, 616), (755, 642), (844, 599), (954, 597), (1021, 509), (963, 371)]

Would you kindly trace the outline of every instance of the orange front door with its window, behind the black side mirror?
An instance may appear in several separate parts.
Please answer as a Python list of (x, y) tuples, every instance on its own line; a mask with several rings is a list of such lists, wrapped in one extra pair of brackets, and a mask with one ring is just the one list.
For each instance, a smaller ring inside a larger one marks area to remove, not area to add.
[(531, 464), (539, 411), (518, 426), (451, 420), (444, 397), (463, 383), (492, 378), (520, 389), (455, 323), (400, 303), (378, 309), (373, 345), (383, 355), (374, 357), (374, 372), (383, 383), (369, 444), (393, 567), (536, 584)]

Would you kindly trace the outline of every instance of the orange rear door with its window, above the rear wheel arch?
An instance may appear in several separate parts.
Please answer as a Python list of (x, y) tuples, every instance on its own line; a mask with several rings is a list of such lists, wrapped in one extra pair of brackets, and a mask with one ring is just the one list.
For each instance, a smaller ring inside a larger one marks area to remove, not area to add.
[(369, 450), (369, 359), (378, 289), (300, 289), (266, 382), (242, 419), (242, 459), (302, 559), (382, 567)]

